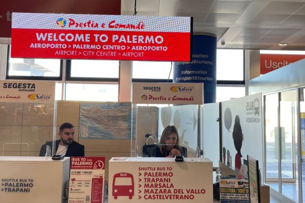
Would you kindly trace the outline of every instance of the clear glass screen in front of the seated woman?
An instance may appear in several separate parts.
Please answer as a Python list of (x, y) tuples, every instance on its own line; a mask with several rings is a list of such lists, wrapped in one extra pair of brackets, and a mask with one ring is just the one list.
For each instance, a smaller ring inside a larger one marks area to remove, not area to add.
[[(133, 108), (136, 156), (196, 156), (196, 147), (200, 145), (198, 105), (133, 105)], [(170, 154), (170, 149), (177, 149), (177, 154)]]

